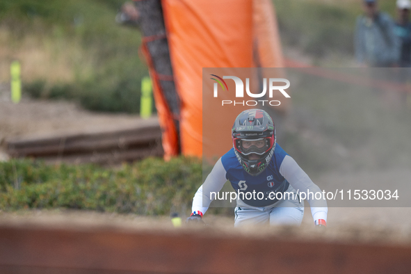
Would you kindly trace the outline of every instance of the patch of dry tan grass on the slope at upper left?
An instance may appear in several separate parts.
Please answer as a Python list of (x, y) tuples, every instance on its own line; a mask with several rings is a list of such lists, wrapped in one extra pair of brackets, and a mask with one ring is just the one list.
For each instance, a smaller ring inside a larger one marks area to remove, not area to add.
[[(10, 32), (0, 27), (0, 82), (10, 81), (10, 63), (18, 60), (22, 80), (47, 79), (47, 83), (73, 82), (76, 74), (92, 73), (94, 58), (82, 49), (79, 40), (54, 39), (27, 34), (13, 46)], [(77, 65), (81, 61), (81, 66)]]

